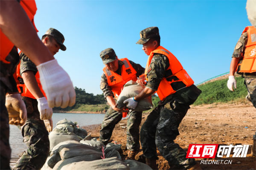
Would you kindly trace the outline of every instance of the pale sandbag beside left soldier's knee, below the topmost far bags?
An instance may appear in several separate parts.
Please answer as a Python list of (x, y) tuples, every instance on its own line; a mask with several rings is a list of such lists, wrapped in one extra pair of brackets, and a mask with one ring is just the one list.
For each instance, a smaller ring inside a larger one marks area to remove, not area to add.
[(50, 150), (52, 150), (52, 148), (57, 144), (70, 140), (79, 142), (81, 139), (79, 139), (79, 137), (76, 136), (75, 133), (59, 133), (56, 131), (52, 131), (49, 134)]

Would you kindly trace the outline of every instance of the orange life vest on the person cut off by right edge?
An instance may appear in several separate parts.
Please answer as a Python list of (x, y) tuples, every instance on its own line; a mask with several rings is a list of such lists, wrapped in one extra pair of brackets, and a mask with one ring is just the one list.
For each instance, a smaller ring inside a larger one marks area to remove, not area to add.
[(247, 26), (244, 32), (247, 32), (248, 40), (245, 45), (244, 58), (239, 73), (253, 73), (256, 72), (256, 28), (254, 26)]

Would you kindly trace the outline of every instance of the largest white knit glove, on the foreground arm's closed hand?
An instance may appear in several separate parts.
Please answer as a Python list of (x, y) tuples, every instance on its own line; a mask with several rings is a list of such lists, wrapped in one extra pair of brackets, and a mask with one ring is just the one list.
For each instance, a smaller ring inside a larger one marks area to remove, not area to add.
[(43, 90), (50, 108), (73, 106), (76, 92), (69, 75), (58, 65), (56, 59), (37, 66)]

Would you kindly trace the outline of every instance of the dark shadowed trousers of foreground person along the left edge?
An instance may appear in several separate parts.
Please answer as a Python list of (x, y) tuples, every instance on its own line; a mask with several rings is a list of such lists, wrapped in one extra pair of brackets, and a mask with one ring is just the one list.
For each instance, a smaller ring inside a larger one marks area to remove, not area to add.
[(11, 147), (9, 144), (9, 136), (10, 136), (10, 128), (9, 128), (9, 115), (7, 109), (5, 107), (5, 96), (6, 96), (6, 88), (5, 85), (0, 85), (0, 96), (1, 96), (1, 112), (0, 112), (0, 150), (1, 150), (1, 161), (0, 161), (0, 169), (7, 170), (10, 169), (10, 158), (11, 158)]

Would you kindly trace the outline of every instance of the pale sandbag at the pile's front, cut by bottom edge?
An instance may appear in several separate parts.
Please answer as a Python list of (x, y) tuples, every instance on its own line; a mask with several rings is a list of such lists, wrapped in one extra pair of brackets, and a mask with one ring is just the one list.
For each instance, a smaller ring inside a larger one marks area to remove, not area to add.
[(129, 170), (129, 167), (125, 162), (116, 158), (79, 162), (66, 159), (59, 165), (58, 170)]

